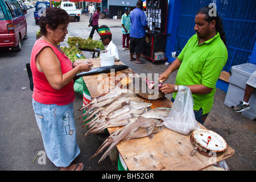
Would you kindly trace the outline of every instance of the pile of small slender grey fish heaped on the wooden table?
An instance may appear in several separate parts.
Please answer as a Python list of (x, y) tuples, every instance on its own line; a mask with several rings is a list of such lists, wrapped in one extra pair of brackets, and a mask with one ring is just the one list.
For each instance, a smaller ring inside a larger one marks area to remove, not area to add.
[(168, 117), (170, 108), (150, 109), (151, 105), (130, 90), (117, 89), (115, 92), (94, 98), (88, 105), (81, 107), (80, 111), (85, 110), (85, 113), (79, 119), (87, 117), (81, 122), (87, 122), (82, 127), (89, 128), (84, 136), (101, 133), (108, 127), (121, 127), (105, 140), (92, 158), (111, 144), (99, 160), (100, 163), (109, 154), (111, 148), (121, 140), (152, 137), (162, 131), (164, 125), (160, 120)]

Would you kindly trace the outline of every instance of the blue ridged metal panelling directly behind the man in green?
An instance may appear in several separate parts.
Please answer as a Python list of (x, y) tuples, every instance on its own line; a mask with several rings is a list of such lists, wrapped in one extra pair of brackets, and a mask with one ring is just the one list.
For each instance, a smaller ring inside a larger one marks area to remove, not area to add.
[(183, 0), (181, 2), (176, 51), (180, 53), (188, 39), (195, 34), (196, 12), (212, 2), (216, 3), (218, 15), (224, 24), (229, 55), (224, 71), (229, 71), (233, 65), (250, 61), (256, 40), (255, 0)]

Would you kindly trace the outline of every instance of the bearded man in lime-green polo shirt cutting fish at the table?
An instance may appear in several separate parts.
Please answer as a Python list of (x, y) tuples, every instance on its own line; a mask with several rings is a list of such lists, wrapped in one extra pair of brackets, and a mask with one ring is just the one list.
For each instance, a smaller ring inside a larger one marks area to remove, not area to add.
[(160, 91), (164, 94), (174, 93), (176, 97), (179, 85), (188, 86), (192, 92), (193, 110), (196, 120), (202, 125), (213, 106), (216, 82), (228, 59), (225, 32), (222, 20), (217, 15), (210, 16), (212, 8), (202, 7), (195, 17), (196, 34), (193, 35), (170, 67), (159, 76), (166, 81), (177, 69), (176, 85), (163, 84)]

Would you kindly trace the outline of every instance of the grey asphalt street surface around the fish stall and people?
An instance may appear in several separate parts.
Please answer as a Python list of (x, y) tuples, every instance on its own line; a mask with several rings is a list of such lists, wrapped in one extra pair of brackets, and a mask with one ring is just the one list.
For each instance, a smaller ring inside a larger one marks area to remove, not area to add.
[[(34, 158), (39, 151), (44, 151), (42, 137), (38, 126), (36, 125), (34, 111), (32, 110), (32, 91), (29, 88), (29, 81), (26, 71), (26, 63), (30, 62), (32, 47), (36, 40), (36, 31), (39, 29), (35, 25), (33, 16), (34, 9), (28, 10), (26, 18), (28, 23), (28, 39), (22, 42), (22, 51), (13, 52), (6, 49), (0, 49), (0, 170), (49, 170), (58, 171), (48, 158), (46, 161), (40, 158)], [(82, 15), (80, 22), (69, 23), (68, 36), (80, 36), (88, 38), (91, 28), (88, 27), (88, 16)], [(141, 73), (162, 73), (166, 69), (164, 63), (152, 64), (150, 60), (142, 57), (146, 64), (135, 64), (129, 61), (129, 51), (122, 51), (121, 20), (100, 19), (100, 25), (106, 24), (110, 27), (113, 34), (113, 42), (119, 49), (119, 55), (123, 63), (128, 65), (135, 72)], [(93, 39), (99, 40), (97, 32)], [(61, 43), (61, 46), (67, 46), (67, 42)], [(84, 52), (85, 57), (91, 58), (92, 54)], [(168, 83), (174, 84), (176, 73), (168, 79)], [(204, 126), (220, 134), (226, 142), (234, 148), (235, 154), (232, 158), (226, 159), (226, 163), (234, 171), (254, 171), (256, 168), (255, 157), (255, 121), (234, 113), (231, 108), (224, 105), (226, 93), (220, 89), (214, 97), (213, 109), (209, 114)], [(167, 96), (171, 98), (171, 94)], [(74, 102), (75, 117), (81, 114), (77, 109), (82, 106), (82, 96), (76, 93)], [(77, 141), (80, 146), (81, 154), (75, 159), (75, 162), (85, 164), (86, 171), (115, 171), (117, 165), (112, 163), (107, 157), (98, 164), (97, 158), (89, 158), (97, 151), (107, 135), (88, 135), (82, 137), (86, 132), (81, 129), (80, 121), (76, 122)]]

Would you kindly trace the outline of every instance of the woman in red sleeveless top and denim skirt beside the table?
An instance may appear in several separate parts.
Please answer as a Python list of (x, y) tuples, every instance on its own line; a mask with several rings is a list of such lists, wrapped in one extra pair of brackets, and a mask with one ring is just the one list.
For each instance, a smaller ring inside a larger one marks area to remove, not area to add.
[(90, 71), (92, 63), (76, 62), (61, 51), (71, 19), (65, 10), (49, 7), (40, 19), (43, 36), (36, 40), (31, 53), (34, 82), (33, 107), (48, 158), (61, 170), (81, 170), (83, 164), (71, 164), (80, 153), (76, 142), (73, 114), (73, 77)]

